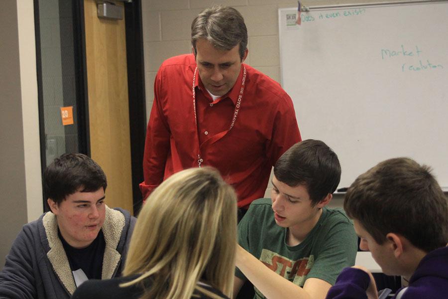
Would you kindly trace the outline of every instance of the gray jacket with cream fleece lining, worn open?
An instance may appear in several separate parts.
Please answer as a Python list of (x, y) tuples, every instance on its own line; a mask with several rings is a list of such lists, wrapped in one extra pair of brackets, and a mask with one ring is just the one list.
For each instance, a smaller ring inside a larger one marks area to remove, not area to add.
[[(135, 221), (126, 210), (106, 207), (102, 279), (113, 278), (118, 267), (124, 266)], [(0, 272), (0, 298), (69, 299), (75, 289), (56, 216), (47, 212), (25, 224)]]

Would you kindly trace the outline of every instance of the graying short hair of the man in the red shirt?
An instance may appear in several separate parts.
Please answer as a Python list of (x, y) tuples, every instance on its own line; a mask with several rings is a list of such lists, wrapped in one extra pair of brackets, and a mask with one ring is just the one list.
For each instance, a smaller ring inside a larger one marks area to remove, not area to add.
[(220, 50), (231, 50), (239, 44), (242, 59), (247, 48), (247, 28), (241, 13), (233, 7), (215, 5), (203, 10), (191, 24), (191, 45), (196, 56), (196, 41), (209, 41)]

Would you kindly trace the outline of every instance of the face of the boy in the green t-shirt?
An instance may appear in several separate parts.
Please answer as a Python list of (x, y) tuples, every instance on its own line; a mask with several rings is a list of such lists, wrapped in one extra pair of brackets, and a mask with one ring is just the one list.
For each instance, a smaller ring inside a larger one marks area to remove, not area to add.
[(312, 206), (308, 190), (303, 185), (291, 187), (272, 178), (272, 210), (277, 225), (300, 228), (314, 225), (320, 217), (320, 204)]

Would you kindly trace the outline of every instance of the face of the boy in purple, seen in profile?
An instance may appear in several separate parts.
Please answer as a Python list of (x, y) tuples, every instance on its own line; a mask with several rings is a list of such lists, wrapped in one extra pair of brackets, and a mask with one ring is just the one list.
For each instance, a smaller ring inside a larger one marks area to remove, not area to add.
[(370, 251), (373, 259), (381, 267), (383, 273), (386, 275), (401, 275), (396, 273), (395, 257), (393, 252), (388, 250), (388, 241), (386, 240), (382, 245), (376, 243), (375, 239), (373, 239), (362, 224), (356, 219), (353, 219), (353, 226), (356, 234), (361, 239), (359, 248), (364, 251)]

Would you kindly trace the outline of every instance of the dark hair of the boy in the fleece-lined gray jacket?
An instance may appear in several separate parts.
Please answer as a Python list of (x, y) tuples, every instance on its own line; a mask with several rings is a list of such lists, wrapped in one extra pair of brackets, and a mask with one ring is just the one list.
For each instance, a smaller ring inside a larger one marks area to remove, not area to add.
[(106, 191), (108, 182), (103, 169), (82, 153), (64, 153), (47, 166), (43, 174), (45, 197), (58, 205), (81, 188), (81, 192)]

